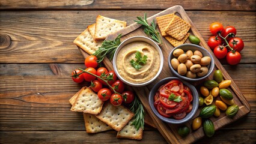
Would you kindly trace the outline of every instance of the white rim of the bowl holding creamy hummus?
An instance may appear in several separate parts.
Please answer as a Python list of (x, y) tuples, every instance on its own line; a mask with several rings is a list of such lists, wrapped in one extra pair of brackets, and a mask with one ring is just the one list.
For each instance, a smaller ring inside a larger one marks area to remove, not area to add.
[[(118, 73), (118, 70), (117, 70), (117, 65), (115, 64), (115, 61), (117, 59), (117, 55), (118, 55), (119, 51), (124, 46), (126, 46), (129, 43), (132, 43), (133, 41), (144, 41), (146, 43), (151, 44), (157, 50), (157, 52), (159, 53), (159, 56), (160, 56), (160, 67), (159, 67), (159, 70), (157, 71), (156, 75), (152, 79), (150, 79), (150, 80), (148, 80), (147, 82), (144, 82), (144, 83), (128, 82), (127, 80), (125, 80), (123, 77), (120, 76), (120, 74)], [(163, 69), (163, 53), (162, 53), (162, 50), (160, 49), (160, 47), (158, 46), (158, 44), (156, 44), (156, 42), (154, 42), (150, 38), (144, 37), (144, 36), (133, 36), (133, 37), (127, 38), (126, 40), (121, 42), (121, 44), (117, 47), (117, 50), (115, 51), (114, 57), (113, 57), (113, 67), (114, 67), (115, 73), (117, 74), (117, 77), (120, 80), (122, 80), (124, 83), (126, 83), (127, 85), (136, 86), (136, 87), (138, 87), (138, 86), (145, 86), (145, 85), (148, 85), (151, 82), (153, 82), (159, 76), (159, 74), (161, 73), (161, 71)]]

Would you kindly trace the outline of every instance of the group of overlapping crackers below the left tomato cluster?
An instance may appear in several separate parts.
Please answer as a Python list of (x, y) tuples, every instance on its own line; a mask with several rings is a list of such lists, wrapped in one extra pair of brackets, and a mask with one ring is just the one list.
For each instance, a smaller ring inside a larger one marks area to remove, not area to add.
[(138, 131), (130, 121), (134, 113), (124, 106), (113, 106), (109, 101), (105, 103), (97, 94), (86, 86), (69, 100), (70, 110), (83, 112), (87, 133), (99, 133), (106, 130), (116, 130), (117, 138), (142, 139), (142, 128)]

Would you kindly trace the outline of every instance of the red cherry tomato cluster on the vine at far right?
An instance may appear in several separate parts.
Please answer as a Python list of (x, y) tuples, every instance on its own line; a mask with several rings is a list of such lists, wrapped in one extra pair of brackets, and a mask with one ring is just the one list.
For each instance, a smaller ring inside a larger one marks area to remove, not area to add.
[(241, 38), (235, 37), (236, 28), (234, 26), (224, 28), (221, 23), (214, 22), (210, 25), (210, 32), (213, 36), (209, 38), (208, 46), (213, 50), (216, 58), (226, 58), (230, 65), (239, 64), (244, 43)]

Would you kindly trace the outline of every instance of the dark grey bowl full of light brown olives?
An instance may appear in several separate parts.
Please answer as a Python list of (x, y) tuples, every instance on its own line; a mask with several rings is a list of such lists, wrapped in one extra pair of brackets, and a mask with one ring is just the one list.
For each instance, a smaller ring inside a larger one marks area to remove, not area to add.
[(215, 62), (211, 53), (204, 47), (181, 44), (169, 53), (168, 65), (175, 76), (195, 82), (208, 77), (215, 67)]

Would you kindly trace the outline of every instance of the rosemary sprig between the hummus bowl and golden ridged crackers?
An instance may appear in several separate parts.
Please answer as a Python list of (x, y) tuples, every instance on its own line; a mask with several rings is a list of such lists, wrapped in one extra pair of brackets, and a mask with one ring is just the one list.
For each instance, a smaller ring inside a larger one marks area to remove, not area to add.
[(146, 13), (144, 14), (144, 19), (142, 17), (137, 17), (137, 19), (138, 20), (134, 21), (144, 26), (145, 34), (149, 35), (154, 41), (162, 45), (162, 38), (160, 37), (159, 32), (156, 30), (156, 23), (154, 23), (154, 20), (152, 20), (151, 26), (148, 25)]

